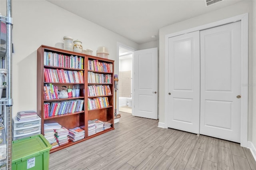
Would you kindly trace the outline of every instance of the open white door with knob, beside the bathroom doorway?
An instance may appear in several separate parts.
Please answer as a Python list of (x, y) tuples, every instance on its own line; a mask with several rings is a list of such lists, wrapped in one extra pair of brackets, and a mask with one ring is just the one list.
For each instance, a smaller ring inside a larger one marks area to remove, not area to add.
[(157, 119), (158, 50), (134, 52), (134, 116)]

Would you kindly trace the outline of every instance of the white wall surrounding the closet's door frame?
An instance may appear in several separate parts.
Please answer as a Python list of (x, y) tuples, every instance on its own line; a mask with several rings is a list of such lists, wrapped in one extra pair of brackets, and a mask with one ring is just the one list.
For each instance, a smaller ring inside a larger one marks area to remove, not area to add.
[[(255, 4), (255, 2), (254, 2)], [(254, 6), (255, 8), (255, 6)], [(255, 9), (254, 9), (255, 11)], [(242, 1), (237, 4), (234, 4), (232, 6), (228, 6), (219, 10), (216, 10), (214, 12), (209, 12), (207, 14), (203, 14), (201, 16), (197, 16), (194, 18), (190, 18), (188, 20), (184, 20), (182, 22), (178, 22), (176, 24), (172, 24), (170, 26), (166, 26), (164, 28), (161, 28), (159, 30), (159, 122), (165, 123), (165, 105), (164, 105), (164, 99), (165, 99), (165, 93), (168, 93), (165, 91), (165, 84), (166, 79), (165, 76), (167, 74), (166, 70), (168, 68), (165, 68), (165, 35), (179, 32), (182, 30), (186, 30), (188, 28), (194, 28), (197, 26), (201, 26), (204, 24), (208, 24), (211, 22), (216, 22), (218, 20), (223, 20), (226, 18), (230, 18), (233, 16), (237, 16), (240, 14), (249, 13), (249, 84), (251, 84), (253, 81), (255, 81), (255, 78), (253, 78), (253, 56), (252, 56), (252, 1)], [(255, 16), (254, 16), (255, 17)], [(255, 18), (254, 18), (254, 25), (255, 25)], [(255, 31), (255, 30), (254, 30)], [(254, 45), (255, 46), (255, 45)], [(254, 50), (255, 52), (255, 50)], [(255, 55), (255, 53), (254, 53)], [(255, 63), (255, 62), (254, 62)], [(254, 64), (255, 65), (255, 64)], [(254, 146), (256, 146), (256, 133), (254, 130), (254, 133), (252, 133), (252, 124), (256, 124), (256, 118), (254, 118), (254, 121), (252, 122), (252, 117), (255, 117), (256, 110), (255, 108), (252, 109), (253, 106), (253, 100), (252, 100), (252, 89), (253, 87), (249, 87), (249, 108), (248, 108), (248, 140), (254, 139)], [(256, 96), (256, 95), (254, 95)], [(254, 104), (255, 105), (255, 104)], [(255, 125), (254, 125), (255, 126)], [(254, 127), (255, 129), (255, 127)]]

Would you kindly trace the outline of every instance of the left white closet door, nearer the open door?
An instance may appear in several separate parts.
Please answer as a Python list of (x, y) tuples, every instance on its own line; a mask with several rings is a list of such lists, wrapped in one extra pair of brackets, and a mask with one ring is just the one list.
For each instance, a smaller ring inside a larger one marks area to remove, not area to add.
[(168, 127), (199, 133), (199, 31), (168, 40)]

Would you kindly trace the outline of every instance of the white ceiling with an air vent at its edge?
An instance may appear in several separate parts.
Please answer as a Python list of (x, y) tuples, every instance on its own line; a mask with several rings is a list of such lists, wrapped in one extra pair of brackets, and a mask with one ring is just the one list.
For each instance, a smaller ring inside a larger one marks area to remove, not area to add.
[[(159, 29), (241, 0), (205, 6), (204, 0), (47, 0), (138, 44), (158, 40)], [(156, 38), (151, 38), (151, 36)]]

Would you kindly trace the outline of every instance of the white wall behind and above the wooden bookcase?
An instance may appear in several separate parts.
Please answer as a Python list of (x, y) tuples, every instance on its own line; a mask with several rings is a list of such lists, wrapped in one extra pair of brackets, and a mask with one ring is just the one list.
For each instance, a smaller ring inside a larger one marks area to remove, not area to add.
[[(0, 0), (0, 3), (0, 12), (6, 16), (6, 1)], [(85, 49), (91, 48), (93, 55), (99, 46), (106, 46), (109, 59), (115, 60), (115, 74), (118, 74), (119, 65), (117, 42), (138, 49), (137, 43), (45, 0), (12, 1), (12, 18), (13, 117), (18, 111), (36, 111), (36, 50), (40, 45), (54, 46), (63, 42), (63, 36), (71, 36), (82, 41)]]

